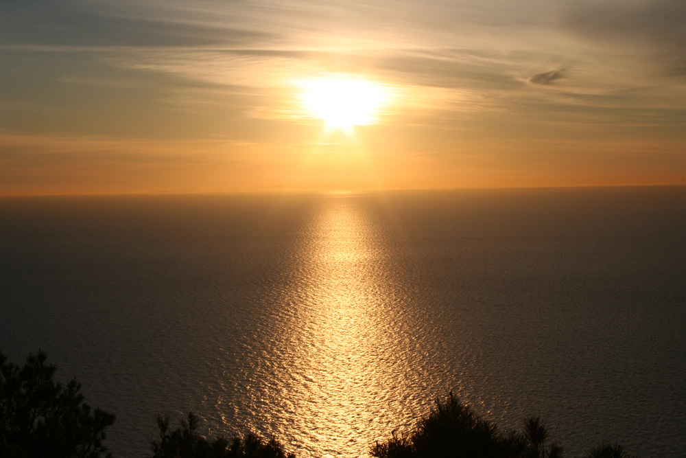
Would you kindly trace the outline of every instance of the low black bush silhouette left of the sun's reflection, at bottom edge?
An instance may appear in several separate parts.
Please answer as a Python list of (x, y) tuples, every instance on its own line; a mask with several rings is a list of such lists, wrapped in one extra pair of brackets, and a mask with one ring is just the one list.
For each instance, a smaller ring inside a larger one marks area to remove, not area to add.
[(176, 429), (169, 429), (169, 415), (158, 415), (157, 426), (160, 437), (152, 441), (154, 458), (295, 458), (286, 455), (276, 440), (262, 442), (252, 433), (230, 443), (224, 437), (208, 440), (196, 431), (198, 417), (192, 412)]

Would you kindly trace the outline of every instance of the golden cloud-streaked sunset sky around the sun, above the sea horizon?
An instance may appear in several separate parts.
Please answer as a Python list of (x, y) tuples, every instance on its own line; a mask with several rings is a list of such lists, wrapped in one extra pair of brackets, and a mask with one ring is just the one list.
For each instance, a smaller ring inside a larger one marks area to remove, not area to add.
[[(0, 0), (0, 195), (683, 185), (685, 23), (683, 0)], [(304, 102), (340, 80), (377, 88), (372, 120)]]

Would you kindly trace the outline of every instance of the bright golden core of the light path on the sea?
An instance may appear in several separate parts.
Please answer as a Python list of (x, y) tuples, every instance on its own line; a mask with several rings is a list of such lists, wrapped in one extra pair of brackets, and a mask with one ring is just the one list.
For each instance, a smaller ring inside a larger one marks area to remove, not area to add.
[[(368, 456), (377, 439), (410, 426), (431, 385), (398, 272), (361, 201), (322, 199), (303, 233), (267, 330), (261, 372), (269, 388), (255, 424), (271, 423), (305, 457)], [(265, 383), (265, 380), (259, 380)]]

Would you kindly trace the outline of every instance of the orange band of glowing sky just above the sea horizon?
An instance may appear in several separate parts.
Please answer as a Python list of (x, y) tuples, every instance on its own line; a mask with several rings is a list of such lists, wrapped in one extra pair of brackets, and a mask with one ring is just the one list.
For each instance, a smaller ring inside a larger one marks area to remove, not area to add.
[[(393, 106), (397, 111), (397, 106)], [(281, 137), (126, 139), (0, 132), (0, 195), (365, 192), (684, 185), (679, 139), (486, 144), (477, 131), (298, 123)], [(285, 121), (279, 121), (284, 122)], [(257, 124), (257, 123), (256, 123)], [(259, 126), (259, 124), (257, 124)], [(456, 133), (460, 135), (456, 135)], [(526, 135), (523, 132), (521, 135)], [(259, 132), (256, 134), (259, 137)], [(658, 152), (658, 148), (661, 148)], [(21, 151), (21, 154), (12, 154)], [(584, 152), (580, 161), (578, 151)], [(552, 154), (552, 153), (555, 154)], [(622, 163), (622, 158), (631, 161)], [(665, 170), (657, 161), (672, 163)]]

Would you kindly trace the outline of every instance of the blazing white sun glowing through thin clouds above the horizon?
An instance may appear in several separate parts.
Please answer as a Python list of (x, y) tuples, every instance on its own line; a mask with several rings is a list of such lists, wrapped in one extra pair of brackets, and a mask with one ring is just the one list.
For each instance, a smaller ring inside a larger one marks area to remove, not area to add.
[(329, 128), (350, 129), (376, 122), (386, 96), (379, 84), (364, 80), (322, 79), (303, 82), (303, 102)]

